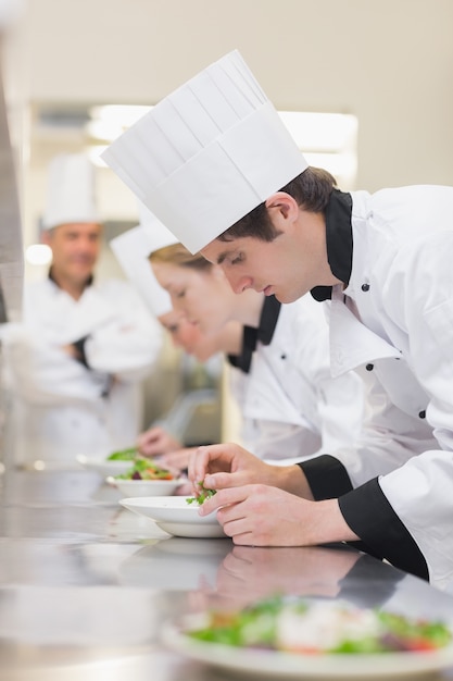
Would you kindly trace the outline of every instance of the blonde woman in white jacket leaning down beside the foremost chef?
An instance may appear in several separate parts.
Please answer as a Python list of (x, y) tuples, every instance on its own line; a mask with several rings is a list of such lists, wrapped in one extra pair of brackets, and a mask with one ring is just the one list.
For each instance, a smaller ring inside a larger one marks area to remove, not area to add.
[(307, 296), (286, 306), (251, 289), (238, 296), (218, 265), (181, 244), (155, 249), (150, 261), (174, 309), (203, 333), (218, 333), (231, 321), (243, 326), (237, 359), (247, 374), (242, 437), (256, 456), (286, 462), (356, 441), (362, 380), (354, 373), (331, 377), (320, 306)]

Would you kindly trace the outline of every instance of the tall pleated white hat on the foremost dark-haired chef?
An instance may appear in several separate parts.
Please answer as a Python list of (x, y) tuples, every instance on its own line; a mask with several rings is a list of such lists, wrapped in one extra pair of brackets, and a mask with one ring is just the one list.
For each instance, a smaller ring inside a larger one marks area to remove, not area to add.
[(163, 99), (102, 158), (192, 253), (307, 168), (237, 50)]

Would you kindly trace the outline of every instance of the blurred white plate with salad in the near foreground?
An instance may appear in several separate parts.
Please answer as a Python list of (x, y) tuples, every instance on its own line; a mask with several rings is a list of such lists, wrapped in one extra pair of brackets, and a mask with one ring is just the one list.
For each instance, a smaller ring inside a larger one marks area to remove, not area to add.
[(191, 659), (260, 681), (413, 681), (453, 665), (451, 622), (301, 596), (186, 615), (166, 622), (162, 637)]

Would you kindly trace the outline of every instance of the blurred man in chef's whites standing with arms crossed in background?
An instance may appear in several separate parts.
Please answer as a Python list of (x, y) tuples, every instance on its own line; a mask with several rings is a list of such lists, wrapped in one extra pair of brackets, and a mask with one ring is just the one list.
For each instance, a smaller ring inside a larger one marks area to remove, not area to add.
[(51, 162), (42, 226), (52, 250), (48, 278), (25, 286), (22, 323), (2, 329), (14, 458), (36, 468), (135, 443), (141, 381), (162, 344), (128, 282), (95, 281), (102, 224), (85, 154)]

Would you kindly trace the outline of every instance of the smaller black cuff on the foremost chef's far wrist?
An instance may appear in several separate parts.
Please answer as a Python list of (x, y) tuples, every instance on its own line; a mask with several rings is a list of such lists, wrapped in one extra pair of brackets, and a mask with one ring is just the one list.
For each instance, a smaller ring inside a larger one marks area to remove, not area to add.
[(329, 454), (301, 461), (299, 466), (305, 473), (316, 502), (336, 499), (352, 490), (347, 469), (341, 461)]

